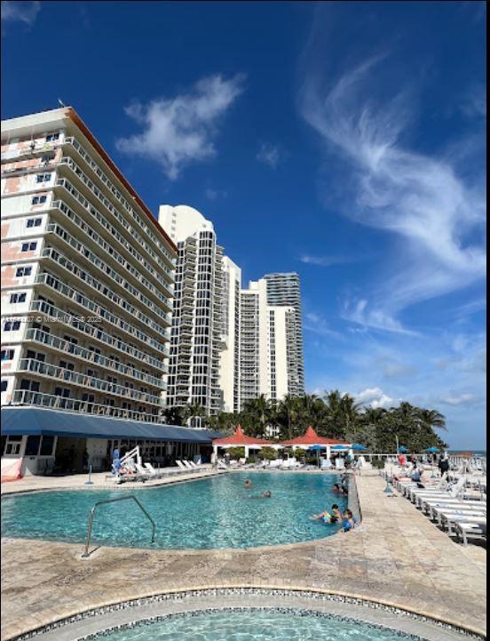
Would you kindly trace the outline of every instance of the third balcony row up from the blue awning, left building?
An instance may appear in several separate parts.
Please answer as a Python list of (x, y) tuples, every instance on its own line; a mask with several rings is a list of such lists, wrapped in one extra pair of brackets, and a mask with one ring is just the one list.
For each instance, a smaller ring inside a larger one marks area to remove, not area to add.
[[(65, 341), (54, 334), (31, 328), (28, 329), (24, 340), (26, 342), (33, 341), (39, 343), (45, 347), (55, 349), (57, 352), (62, 352), (64, 355), (69, 354), (70, 357), (80, 358), (83, 361), (83, 365), (93, 363), (94, 365), (103, 367), (110, 372), (123, 374), (123, 376), (147, 383), (148, 385), (152, 385), (158, 389), (165, 389), (165, 382), (160, 378), (140, 372), (133, 367), (123, 365), (123, 363), (115, 361), (112, 358), (104, 357), (91, 349), (86, 349), (80, 345), (75, 345), (70, 341)], [(166, 367), (162, 370), (162, 373), (167, 373)]]

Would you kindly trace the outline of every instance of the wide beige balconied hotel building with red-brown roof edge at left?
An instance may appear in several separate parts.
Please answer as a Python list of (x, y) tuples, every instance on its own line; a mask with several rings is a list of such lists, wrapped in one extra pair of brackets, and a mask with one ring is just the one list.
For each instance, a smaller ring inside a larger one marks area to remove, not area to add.
[(177, 248), (72, 108), (2, 124), (2, 405), (159, 421)]

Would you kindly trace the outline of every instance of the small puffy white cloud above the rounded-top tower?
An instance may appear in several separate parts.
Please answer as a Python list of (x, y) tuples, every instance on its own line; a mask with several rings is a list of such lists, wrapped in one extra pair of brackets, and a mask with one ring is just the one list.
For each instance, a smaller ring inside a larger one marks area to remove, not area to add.
[(170, 180), (182, 168), (216, 155), (218, 125), (244, 91), (244, 76), (208, 76), (186, 93), (173, 98), (132, 103), (126, 113), (141, 125), (142, 132), (116, 141), (131, 156), (144, 156), (162, 165)]

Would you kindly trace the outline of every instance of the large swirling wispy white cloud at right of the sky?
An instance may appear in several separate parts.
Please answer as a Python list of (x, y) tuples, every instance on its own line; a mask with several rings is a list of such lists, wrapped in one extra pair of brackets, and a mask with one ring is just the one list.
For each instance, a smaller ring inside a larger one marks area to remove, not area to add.
[(374, 56), (333, 79), (306, 74), (300, 110), (346, 166), (344, 213), (396, 242), (383, 280), (346, 300), (344, 316), (405, 332), (404, 309), (484, 277), (485, 250), (474, 238), (483, 236), (486, 199), (482, 185), (459, 176), (446, 157), (402, 142), (413, 117), (409, 92), (373, 98), (386, 58)]

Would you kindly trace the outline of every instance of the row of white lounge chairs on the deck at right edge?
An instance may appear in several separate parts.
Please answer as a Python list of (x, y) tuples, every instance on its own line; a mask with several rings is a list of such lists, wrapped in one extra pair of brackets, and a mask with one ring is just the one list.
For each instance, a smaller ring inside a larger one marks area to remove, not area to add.
[(486, 497), (482, 494), (477, 500), (466, 492), (465, 477), (454, 485), (447, 484), (446, 475), (423, 486), (396, 480), (393, 485), (450, 536), (455, 533), (463, 545), (468, 544), (469, 537), (486, 539)]

